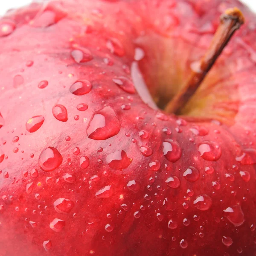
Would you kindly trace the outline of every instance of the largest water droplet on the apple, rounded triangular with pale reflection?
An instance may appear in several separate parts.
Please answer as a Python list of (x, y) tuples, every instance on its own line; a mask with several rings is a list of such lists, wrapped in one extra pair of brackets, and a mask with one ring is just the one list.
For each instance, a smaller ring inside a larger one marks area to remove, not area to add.
[(93, 140), (106, 140), (118, 134), (121, 125), (115, 111), (105, 107), (96, 111), (87, 127), (87, 135)]

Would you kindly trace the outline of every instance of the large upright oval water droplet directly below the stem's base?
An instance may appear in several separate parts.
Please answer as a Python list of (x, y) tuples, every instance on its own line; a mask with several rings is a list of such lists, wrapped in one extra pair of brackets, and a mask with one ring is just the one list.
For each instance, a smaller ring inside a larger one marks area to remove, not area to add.
[(166, 140), (163, 142), (163, 155), (172, 163), (175, 163), (181, 157), (180, 145), (174, 140)]

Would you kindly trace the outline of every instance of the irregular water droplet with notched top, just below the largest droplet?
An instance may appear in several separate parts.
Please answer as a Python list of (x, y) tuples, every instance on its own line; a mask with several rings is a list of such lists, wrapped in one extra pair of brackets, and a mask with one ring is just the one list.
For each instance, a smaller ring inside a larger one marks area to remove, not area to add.
[(126, 169), (131, 163), (130, 158), (127, 157), (127, 154), (123, 150), (118, 150), (109, 154), (106, 158), (106, 161), (108, 166), (115, 170)]

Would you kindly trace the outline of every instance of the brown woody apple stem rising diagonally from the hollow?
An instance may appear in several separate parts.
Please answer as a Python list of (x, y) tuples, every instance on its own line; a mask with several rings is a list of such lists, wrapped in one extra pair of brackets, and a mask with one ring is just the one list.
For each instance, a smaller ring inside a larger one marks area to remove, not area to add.
[(224, 47), (228, 44), (236, 30), (244, 23), (244, 16), (238, 8), (227, 9), (221, 15), (221, 22), (212, 39), (211, 45), (204, 57), (199, 62), (199, 69), (192, 71), (186, 84), (166, 105), (165, 111), (168, 113), (179, 114), (181, 109), (186, 105), (189, 99), (198, 89), (205, 76), (212, 68), (213, 64), (221, 55)]

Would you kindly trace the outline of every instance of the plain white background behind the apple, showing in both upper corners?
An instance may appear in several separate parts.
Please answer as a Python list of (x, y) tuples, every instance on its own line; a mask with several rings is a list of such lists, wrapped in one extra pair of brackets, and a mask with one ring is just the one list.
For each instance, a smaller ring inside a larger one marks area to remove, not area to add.
[[(24, 6), (31, 2), (32, 0), (0, 0), (0, 15), (3, 15), (8, 9)], [(256, 12), (256, 0), (241, 0), (241, 2), (246, 3)]]

